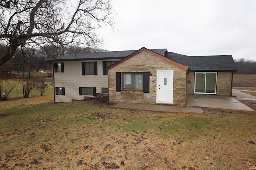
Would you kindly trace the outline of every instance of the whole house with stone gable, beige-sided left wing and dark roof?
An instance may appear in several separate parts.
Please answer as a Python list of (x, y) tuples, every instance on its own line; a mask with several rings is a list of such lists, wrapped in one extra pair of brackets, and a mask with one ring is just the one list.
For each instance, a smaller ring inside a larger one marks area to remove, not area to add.
[(110, 102), (185, 106), (187, 94), (232, 96), (232, 55), (186, 56), (167, 49), (82, 53), (54, 65), (54, 102), (106, 94)]

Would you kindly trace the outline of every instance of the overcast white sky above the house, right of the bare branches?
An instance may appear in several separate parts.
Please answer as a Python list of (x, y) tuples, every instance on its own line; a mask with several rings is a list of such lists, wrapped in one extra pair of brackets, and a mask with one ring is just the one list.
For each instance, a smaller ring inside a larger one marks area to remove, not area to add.
[(256, 0), (112, 0), (116, 26), (98, 35), (109, 51), (168, 49), (256, 61)]

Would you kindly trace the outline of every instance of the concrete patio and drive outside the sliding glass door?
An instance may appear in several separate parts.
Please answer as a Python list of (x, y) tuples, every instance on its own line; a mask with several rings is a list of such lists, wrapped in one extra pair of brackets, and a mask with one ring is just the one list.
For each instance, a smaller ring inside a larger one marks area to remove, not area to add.
[(245, 94), (239, 91), (233, 92), (236, 95), (236, 97), (214, 96), (205, 94), (188, 94), (187, 106), (254, 111), (250, 107), (239, 102), (237, 99), (256, 100), (255, 96)]

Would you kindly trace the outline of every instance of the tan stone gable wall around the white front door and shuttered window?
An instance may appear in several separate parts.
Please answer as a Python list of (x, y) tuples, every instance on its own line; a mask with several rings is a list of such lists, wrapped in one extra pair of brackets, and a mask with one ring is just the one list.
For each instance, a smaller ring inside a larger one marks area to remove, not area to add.
[[(156, 104), (156, 70), (174, 70), (173, 105), (185, 106), (186, 69), (147, 53), (146, 51), (142, 51), (141, 53), (108, 70), (109, 101)], [(116, 92), (116, 72), (151, 72), (150, 92)]]

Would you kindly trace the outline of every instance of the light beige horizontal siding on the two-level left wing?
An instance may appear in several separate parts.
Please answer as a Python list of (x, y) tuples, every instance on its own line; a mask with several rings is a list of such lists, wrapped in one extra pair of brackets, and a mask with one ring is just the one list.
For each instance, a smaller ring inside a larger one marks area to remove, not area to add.
[[(98, 75), (82, 76), (82, 62), (94, 61), (97, 61)], [(117, 60), (64, 61), (64, 72), (54, 72), (54, 86), (64, 87), (65, 95), (56, 95), (54, 93), (55, 102), (83, 100), (87, 95), (79, 95), (79, 87), (96, 87), (96, 93), (102, 93), (102, 87), (108, 88), (108, 75), (102, 75), (102, 61)]]

